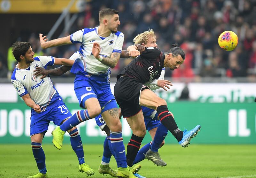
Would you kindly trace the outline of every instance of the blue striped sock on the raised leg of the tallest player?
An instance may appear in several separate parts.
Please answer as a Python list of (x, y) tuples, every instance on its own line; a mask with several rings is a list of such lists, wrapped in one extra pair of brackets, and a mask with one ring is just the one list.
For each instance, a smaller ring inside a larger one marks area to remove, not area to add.
[(71, 116), (66, 122), (60, 125), (60, 129), (62, 131), (68, 131), (76, 125), (80, 124), (81, 122), (89, 119), (91, 119), (91, 117), (88, 114), (88, 110), (78, 110), (76, 114)]

